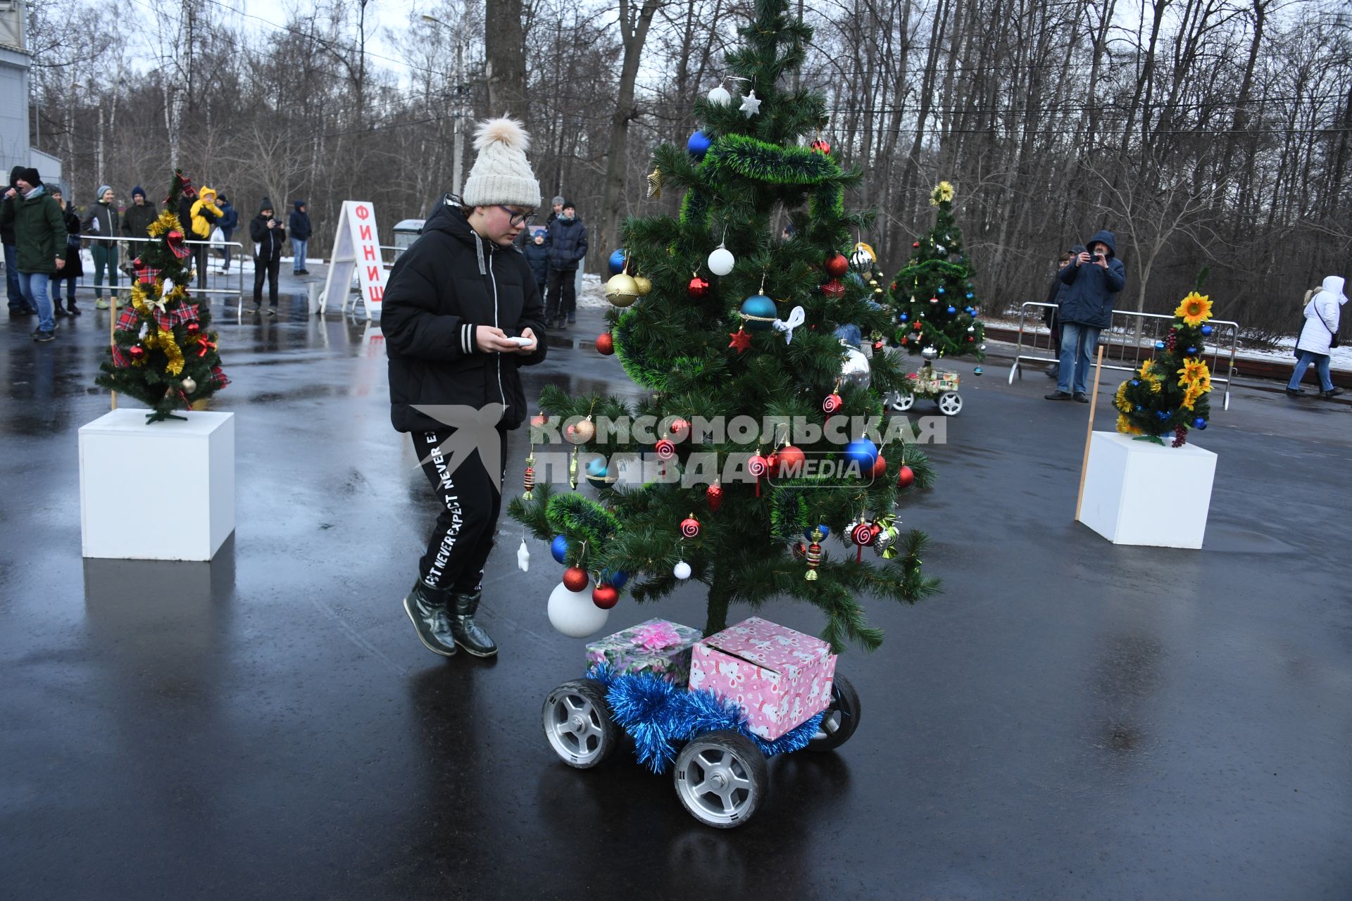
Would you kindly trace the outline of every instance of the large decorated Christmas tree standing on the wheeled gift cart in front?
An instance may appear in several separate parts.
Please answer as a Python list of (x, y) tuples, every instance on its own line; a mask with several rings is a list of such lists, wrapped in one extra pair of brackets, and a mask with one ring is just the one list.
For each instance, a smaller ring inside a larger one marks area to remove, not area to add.
[[(842, 170), (823, 142), (807, 146), (826, 124), (823, 97), (788, 88), (811, 32), (784, 0), (756, 0), (744, 43), (727, 58), (741, 101), (719, 85), (696, 101), (704, 124), (688, 145), (654, 150), (649, 196), (684, 190), (680, 216), (626, 222), (626, 272), (607, 285), (617, 308), (598, 340), (646, 394), (625, 403), (542, 392), (542, 412), (566, 423), (577, 446), (573, 486), (584, 469), (598, 497), (535, 485), (527, 470), (533, 490), (510, 512), (553, 542), (571, 567), (565, 585), (596, 586), (598, 607), (625, 588), (637, 601), (658, 600), (692, 577), (707, 586), (706, 634), (725, 628), (733, 604), (783, 596), (818, 607), (822, 636), (837, 650), (848, 640), (872, 648), (882, 631), (867, 623), (860, 597), (914, 602), (938, 588), (921, 571), (925, 535), (898, 528), (895, 512), (932, 471), (903, 444), (910, 424), (887, 430), (882, 420), (883, 394), (906, 390), (899, 358), (876, 354), (865, 388), (868, 362), (831, 334), (841, 323), (883, 331), (891, 317), (867, 281), (841, 278), (850, 235), (869, 219), (844, 205), (860, 173)], [(794, 224), (788, 239), (773, 226), (780, 212)], [(602, 417), (626, 416), (653, 416), (661, 428), (627, 438), (596, 430)], [(700, 434), (698, 419), (737, 416), (800, 417), (818, 430), (831, 419), (856, 440), (842, 447), (829, 431)], [(857, 440), (850, 417), (882, 423), (882, 446)], [(650, 461), (650, 481), (614, 481), (626, 454)], [(710, 455), (715, 471), (698, 471)], [(844, 477), (799, 469), (815, 459), (852, 469)], [(727, 478), (729, 466), (742, 477)], [(876, 561), (861, 562), (865, 546)]]

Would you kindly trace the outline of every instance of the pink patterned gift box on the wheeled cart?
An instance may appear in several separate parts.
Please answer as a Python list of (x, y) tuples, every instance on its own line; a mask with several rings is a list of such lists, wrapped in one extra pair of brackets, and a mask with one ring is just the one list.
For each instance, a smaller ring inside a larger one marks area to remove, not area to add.
[(737, 701), (773, 740), (827, 708), (834, 675), (830, 644), (753, 616), (695, 644), (690, 688)]

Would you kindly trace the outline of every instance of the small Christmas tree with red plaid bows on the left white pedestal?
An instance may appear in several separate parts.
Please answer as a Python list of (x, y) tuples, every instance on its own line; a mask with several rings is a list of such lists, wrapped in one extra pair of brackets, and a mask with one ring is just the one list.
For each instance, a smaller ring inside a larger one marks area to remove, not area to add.
[(150, 423), (184, 419), (174, 411), (191, 409), (230, 382), (220, 369), (216, 334), (208, 331), (210, 304), (191, 303), (188, 292), (192, 249), (173, 213), (187, 184), (183, 172), (174, 170), (168, 208), (149, 228), (157, 240), (131, 251), (131, 303), (118, 315), (95, 380), (150, 407)]

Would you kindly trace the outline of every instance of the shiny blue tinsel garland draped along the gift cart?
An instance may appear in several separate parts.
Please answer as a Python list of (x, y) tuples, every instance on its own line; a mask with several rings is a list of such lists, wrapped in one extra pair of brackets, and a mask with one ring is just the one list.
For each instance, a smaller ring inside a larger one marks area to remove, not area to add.
[(587, 678), (606, 686), (611, 719), (634, 739), (638, 762), (662, 773), (676, 759), (676, 748), (704, 732), (733, 729), (756, 743), (765, 756), (807, 747), (822, 723), (822, 713), (767, 742), (746, 723), (746, 712), (735, 702), (719, 700), (704, 689), (672, 685), (653, 673), (618, 674), (608, 666), (594, 666)]

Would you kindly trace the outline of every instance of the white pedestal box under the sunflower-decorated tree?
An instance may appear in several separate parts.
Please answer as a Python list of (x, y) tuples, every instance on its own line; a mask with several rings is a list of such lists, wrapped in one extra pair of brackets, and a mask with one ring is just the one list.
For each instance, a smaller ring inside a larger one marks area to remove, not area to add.
[(1094, 432), (1080, 521), (1114, 544), (1202, 547), (1214, 478), (1209, 450)]

